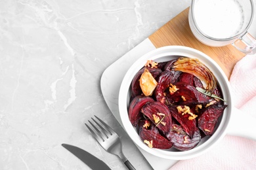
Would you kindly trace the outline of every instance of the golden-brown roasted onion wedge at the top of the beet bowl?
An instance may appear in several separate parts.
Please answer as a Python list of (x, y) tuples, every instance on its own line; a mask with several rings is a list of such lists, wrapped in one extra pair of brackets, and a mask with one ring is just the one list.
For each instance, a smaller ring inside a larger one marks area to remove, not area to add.
[(202, 82), (207, 92), (213, 92), (217, 86), (217, 80), (213, 73), (198, 59), (195, 58), (179, 58), (174, 63), (175, 71), (182, 71), (197, 76)]

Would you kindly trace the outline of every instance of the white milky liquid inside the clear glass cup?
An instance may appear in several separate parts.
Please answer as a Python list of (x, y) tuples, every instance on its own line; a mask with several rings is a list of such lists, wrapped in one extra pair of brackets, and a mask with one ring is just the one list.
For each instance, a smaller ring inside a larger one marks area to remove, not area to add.
[(242, 29), (244, 11), (236, 0), (198, 0), (194, 18), (205, 35), (226, 39)]

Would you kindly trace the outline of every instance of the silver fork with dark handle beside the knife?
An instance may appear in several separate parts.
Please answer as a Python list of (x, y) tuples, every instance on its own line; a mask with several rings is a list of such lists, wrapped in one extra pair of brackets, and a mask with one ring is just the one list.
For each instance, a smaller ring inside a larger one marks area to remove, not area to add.
[(91, 127), (89, 127), (87, 124), (85, 124), (85, 126), (87, 126), (89, 131), (91, 131), (96, 141), (98, 141), (102, 148), (104, 148), (107, 152), (119, 156), (119, 158), (123, 161), (123, 163), (125, 163), (128, 169), (135, 169), (133, 165), (131, 165), (129, 160), (127, 160), (127, 158), (125, 158), (125, 156), (123, 155), (123, 151), (121, 150), (121, 141), (117, 133), (105, 122), (100, 120), (100, 118), (98, 118), (97, 116), (95, 116), (95, 118), (98, 121), (94, 118), (91, 119), (93, 120), (93, 122), (95, 122), (96, 126), (95, 124), (90, 122), (90, 120), (88, 120), (88, 122), (95, 130), (91, 129)]

